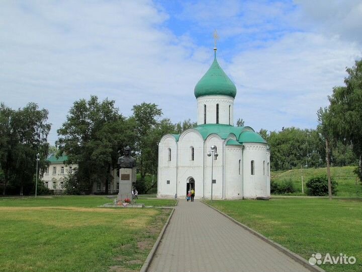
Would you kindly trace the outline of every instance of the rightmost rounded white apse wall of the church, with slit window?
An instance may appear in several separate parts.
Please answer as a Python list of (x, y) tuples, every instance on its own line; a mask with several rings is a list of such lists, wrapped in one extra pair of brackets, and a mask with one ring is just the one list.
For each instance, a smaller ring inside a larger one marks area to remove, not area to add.
[[(267, 176), (269, 158), (267, 156), (266, 144), (245, 144), (243, 159), (244, 198), (269, 197), (270, 177)], [(253, 174), (251, 174), (251, 161), (254, 161)]]

